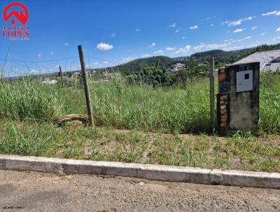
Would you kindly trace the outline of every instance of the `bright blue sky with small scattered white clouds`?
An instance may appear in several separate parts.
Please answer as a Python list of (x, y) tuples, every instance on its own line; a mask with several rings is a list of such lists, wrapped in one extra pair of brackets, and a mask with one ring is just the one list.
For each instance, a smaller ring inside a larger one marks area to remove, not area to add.
[[(12, 2), (0, 1), (1, 14)], [(78, 69), (78, 45), (87, 67), (98, 68), (156, 55), (174, 58), (280, 43), (279, 0), (18, 2), (29, 10), (30, 35), (29, 41), (10, 41), (1, 34), (0, 58), (8, 55), (10, 75), (57, 72), (59, 65)], [(8, 24), (1, 15), (1, 29)]]

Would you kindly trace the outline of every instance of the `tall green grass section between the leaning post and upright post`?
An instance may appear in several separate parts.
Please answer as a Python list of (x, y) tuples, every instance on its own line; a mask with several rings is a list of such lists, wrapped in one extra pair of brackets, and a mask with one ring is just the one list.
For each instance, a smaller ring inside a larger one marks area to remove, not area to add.
[(207, 79), (182, 89), (129, 86), (123, 81), (91, 86), (99, 126), (153, 132), (211, 132)]

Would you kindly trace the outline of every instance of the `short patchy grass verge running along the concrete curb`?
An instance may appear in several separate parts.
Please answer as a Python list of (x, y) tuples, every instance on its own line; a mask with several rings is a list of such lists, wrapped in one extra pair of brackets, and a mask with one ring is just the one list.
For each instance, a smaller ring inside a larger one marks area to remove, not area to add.
[(280, 172), (279, 137), (181, 135), (0, 121), (1, 154)]

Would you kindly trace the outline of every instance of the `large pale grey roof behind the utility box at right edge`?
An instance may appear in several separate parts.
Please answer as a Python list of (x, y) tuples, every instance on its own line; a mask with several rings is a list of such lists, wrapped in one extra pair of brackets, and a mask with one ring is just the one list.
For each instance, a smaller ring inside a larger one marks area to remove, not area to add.
[(280, 50), (254, 53), (234, 64), (237, 65), (248, 62), (260, 62), (261, 72), (267, 72), (269, 70), (276, 72), (277, 69), (280, 71)]

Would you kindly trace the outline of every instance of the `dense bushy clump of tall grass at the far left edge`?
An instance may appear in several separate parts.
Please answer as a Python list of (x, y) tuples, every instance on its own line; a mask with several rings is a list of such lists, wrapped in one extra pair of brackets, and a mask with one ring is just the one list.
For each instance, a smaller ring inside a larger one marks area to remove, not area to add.
[(50, 121), (59, 114), (57, 91), (28, 80), (0, 82), (0, 118)]

